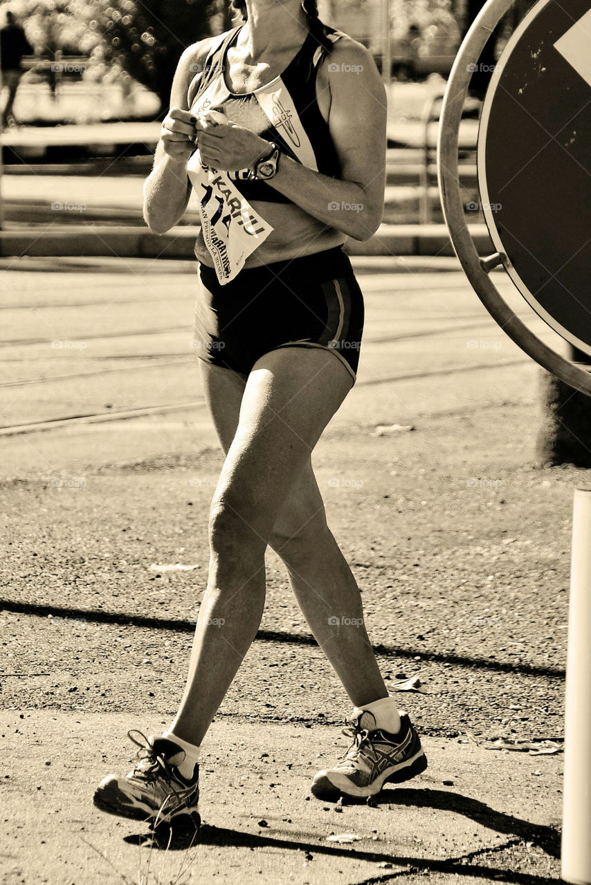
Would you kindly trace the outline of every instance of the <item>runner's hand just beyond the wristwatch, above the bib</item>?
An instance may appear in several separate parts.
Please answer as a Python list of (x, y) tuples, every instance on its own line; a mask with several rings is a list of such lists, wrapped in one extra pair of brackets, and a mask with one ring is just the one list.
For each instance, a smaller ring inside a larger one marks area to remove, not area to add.
[[(213, 114), (212, 114), (213, 116)], [(221, 172), (250, 169), (270, 149), (270, 142), (235, 123), (216, 122), (204, 114), (197, 121), (201, 161)], [(217, 119), (221, 115), (215, 115)]]

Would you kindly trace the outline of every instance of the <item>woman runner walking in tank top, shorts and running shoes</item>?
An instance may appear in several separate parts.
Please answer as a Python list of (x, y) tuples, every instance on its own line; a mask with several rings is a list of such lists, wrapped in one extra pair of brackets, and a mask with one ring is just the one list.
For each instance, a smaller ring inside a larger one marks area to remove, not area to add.
[(144, 186), (158, 234), (182, 218), (191, 187), (201, 201), (196, 344), (226, 455), (207, 589), (175, 720), (160, 737), (130, 732), (136, 767), (95, 794), (105, 812), (196, 827), (201, 742), (259, 629), (267, 546), (354, 704), (353, 742), (316, 773), (314, 795), (368, 797), (426, 767), (377, 667), (310, 460), (359, 360), (362, 292), (342, 247), (382, 217), (385, 89), (369, 52), (324, 26), (315, 2), (234, 5), (242, 24), (180, 59)]

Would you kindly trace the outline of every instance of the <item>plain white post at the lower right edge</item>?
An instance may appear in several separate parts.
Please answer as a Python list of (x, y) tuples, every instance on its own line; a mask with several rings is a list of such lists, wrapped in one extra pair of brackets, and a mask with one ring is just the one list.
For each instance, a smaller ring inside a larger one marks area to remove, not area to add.
[(566, 658), (562, 878), (591, 883), (591, 489), (576, 489)]

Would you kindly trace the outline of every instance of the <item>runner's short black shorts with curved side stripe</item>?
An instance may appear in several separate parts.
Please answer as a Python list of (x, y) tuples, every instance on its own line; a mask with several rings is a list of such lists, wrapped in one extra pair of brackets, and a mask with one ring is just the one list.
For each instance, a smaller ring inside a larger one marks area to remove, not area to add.
[(247, 268), (225, 286), (198, 266), (193, 347), (197, 356), (248, 375), (269, 350), (330, 350), (355, 380), (363, 296), (342, 247)]

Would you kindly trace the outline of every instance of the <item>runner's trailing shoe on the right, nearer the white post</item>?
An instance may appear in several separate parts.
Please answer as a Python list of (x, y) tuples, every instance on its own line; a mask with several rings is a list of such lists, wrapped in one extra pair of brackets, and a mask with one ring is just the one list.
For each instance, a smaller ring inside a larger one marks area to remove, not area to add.
[(334, 768), (316, 774), (312, 783), (316, 797), (375, 796), (386, 782), (409, 781), (427, 767), (427, 758), (408, 713), (400, 711), (401, 727), (397, 735), (377, 728), (373, 714), (357, 707), (349, 725), (343, 734), (353, 738), (353, 743)]

